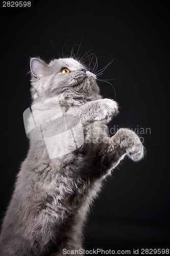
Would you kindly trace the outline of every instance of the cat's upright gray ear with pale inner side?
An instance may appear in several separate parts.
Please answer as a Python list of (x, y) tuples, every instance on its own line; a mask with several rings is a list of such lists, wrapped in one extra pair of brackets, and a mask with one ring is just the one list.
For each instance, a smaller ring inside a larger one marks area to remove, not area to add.
[(48, 66), (41, 59), (31, 58), (30, 69), (36, 79), (40, 79), (48, 74)]

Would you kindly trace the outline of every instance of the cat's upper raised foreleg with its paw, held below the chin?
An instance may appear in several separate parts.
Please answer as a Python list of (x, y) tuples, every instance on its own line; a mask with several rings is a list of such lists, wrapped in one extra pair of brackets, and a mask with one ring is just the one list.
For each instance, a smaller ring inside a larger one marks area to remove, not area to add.
[(99, 99), (87, 102), (79, 110), (82, 123), (107, 120), (118, 114), (117, 102), (111, 99)]

